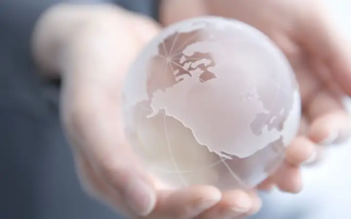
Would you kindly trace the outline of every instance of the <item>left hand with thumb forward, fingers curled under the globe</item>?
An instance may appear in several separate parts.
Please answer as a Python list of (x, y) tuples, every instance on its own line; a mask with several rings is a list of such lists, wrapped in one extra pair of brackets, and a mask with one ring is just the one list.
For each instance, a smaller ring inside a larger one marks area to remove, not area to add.
[(42, 68), (61, 72), (61, 118), (83, 187), (117, 212), (139, 219), (200, 214), (198, 219), (226, 219), (256, 211), (260, 200), (254, 190), (167, 189), (148, 175), (127, 144), (120, 89), (130, 64), (158, 30), (150, 19), (106, 5), (61, 5), (38, 22), (34, 54)]

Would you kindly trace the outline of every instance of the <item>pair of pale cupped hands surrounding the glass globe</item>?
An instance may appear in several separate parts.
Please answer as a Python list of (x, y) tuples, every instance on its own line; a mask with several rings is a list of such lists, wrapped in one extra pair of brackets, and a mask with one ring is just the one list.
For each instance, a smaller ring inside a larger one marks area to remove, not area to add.
[(300, 85), (299, 135), (284, 164), (257, 189), (299, 192), (301, 164), (318, 146), (350, 137), (341, 99), (351, 95), (351, 51), (320, 1), (168, 0), (160, 7), (161, 24), (112, 5), (53, 6), (34, 30), (33, 54), (43, 75), (62, 78), (61, 119), (79, 179), (91, 196), (132, 218), (241, 219), (260, 208), (257, 189), (167, 190), (123, 136), (119, 94), (132, 61), (161, 25), (200, 15), (236, 18), (264, 32), (289, 58)]

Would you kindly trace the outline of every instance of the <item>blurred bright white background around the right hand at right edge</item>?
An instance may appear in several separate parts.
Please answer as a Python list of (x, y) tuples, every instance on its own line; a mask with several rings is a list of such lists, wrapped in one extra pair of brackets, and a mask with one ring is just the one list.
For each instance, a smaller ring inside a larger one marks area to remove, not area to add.
[[(351, 40), (351, 0), (325, 1)], [(346, 105), (350, 109), (351, 101)], [(330, 147), (324, 162), (305, 169), (303, 179), (300, 194), (264, 194), (262, 211), (252, 219), (351, 219), (351, 142)]]

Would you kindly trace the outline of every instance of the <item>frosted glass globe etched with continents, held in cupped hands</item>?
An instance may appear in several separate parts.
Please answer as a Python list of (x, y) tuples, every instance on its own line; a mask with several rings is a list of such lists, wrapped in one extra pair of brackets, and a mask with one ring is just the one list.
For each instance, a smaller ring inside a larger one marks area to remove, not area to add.
[(251, 188), (284, 160), (301, 100), (293, 70), (264, 34), (233, 19), (165, 28), (123, 92), (125, 134), (145, 167), (180, 188)]

